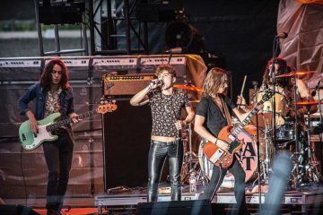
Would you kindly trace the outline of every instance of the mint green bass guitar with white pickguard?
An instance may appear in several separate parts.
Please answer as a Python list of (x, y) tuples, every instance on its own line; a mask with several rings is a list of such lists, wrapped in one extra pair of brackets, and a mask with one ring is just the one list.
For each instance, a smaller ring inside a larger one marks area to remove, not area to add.
[[(76, 116), (76, 118), (83, 119), (97, 113), (105, 114), (107, 112), (112, 112), (116, 109), (116, 104), (100, 105), (98, 108), (93, 109), (92, 111), (88, 111)], [(60, 113), (54, 113), (42, 120), (37, 121), (39, 125), (38, 133), (31, 133), (29, 120), (24, 121), (19, 127), (19, 140), (22, 143), (22, 148), (25, 150), (35, 150), (43, 142), (56, 141), (58, 136), (52, 134), (51, 132), (59, 129), (64, 125), (69, 125), (70, 123), (72, 123), (72, 118), (67, 118), (65, 120), (56, 122), (59, 116), (61, 116)]]

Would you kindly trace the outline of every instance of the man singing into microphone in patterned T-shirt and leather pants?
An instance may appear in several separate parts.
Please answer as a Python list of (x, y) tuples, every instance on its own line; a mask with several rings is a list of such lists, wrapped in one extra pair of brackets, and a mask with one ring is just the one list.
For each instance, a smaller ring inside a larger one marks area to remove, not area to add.
[[(171, 200), (180, 201), (180, 169), (183, 160), (183, 143), (180, 129), (189, 124), (194, 116), (188, 96), (173, 88), (176, 72), (170, 64), (161, 64), (156, 70), (158, 79), (153, 80), (144, 90), (130, 99), (132, 106), (150, 104), (153, 117), (150, 150), (148, 154), (147, 202), (157, 202), (158, 184), (162, 166), (169, 158)], [(185, 108), (186, 118), (180, 119), (180, 111)]]

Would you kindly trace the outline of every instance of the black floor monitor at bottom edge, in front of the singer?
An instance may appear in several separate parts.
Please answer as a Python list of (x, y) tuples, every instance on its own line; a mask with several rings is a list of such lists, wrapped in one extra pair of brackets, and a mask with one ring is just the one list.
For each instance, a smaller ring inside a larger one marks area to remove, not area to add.
[(211, 215), (211, 202), (208, 200), (195, 201), (172, 201), (172, 202), (144, 202), (138, 203), (136, 214), (148, 215), (178, 215), (178, 214), (194, 214), (194, 215)]

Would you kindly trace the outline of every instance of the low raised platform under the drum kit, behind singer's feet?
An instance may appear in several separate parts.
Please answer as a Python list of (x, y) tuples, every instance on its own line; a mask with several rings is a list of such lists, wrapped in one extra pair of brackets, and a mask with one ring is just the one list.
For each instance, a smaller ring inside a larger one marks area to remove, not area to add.
[[(187, 187), (188, 188), (188, 187)], [(144, 193), (143, 193), (144, 192)], [(196, 200), (200, 192), (188, 193), (187, 189), (183, 190), (181, 200)], [(266, 200), (266, 193), (261, 194), (261, 202)], [(158, 202), (170, 201), (170, 193), (160, 193)], [(95, 205), (98, 212), (103, 208), (133, 208), (139, 202), (146, 202), (146, 194), (144, 190), (133, 190), (130, 192), (123, 191), (120, 187), (119, 192), (113, 192), (95, 197)], [(246, 193), (246, 202), (250, 208), (258, 208), (259, 194)], [(236, 203), (232, 189), (223, 188), (215, 194), (212, 200), (213, 204), (230, 205)], [(311, 186), (294, 191), (286, 191), (282, 201), (282, 209), (290, 209), (290, 211), (299, 211), (304, 213), (309, 209), (318, 209), (323, 207), (323, 186)], [(323, 209), (323, 208), (322, 208)], [(318, 213), (320, 214), (320, 213)]]

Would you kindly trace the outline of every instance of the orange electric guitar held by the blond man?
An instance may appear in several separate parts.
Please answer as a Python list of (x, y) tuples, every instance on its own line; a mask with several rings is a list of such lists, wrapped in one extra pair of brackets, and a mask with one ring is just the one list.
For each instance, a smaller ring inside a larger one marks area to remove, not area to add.
[(206, 142), (203, 149), (205, 157), (212, 163), (214, 163), (214, 165), (217, 167), (230, 168), (230, 166), (232, 165), (234, 153), (240, 150), (240, 148), (244, 144), (244, 140), (237, 139), (238, 134), (243, 129), (243, 127), (249, 123), (251, 117), (257, 114), (260, 106), (264, 104), (265, 101), (269, 100), (273, 95), (273, 90), (266, 90), (262, 99), (251, 110), (249, 115), (242, 122), (240, 122), (240, 125), (238, 125), (234, 129), (232, 126), (223, 127), (217, 138), (224, 142), (228, 142), (230, 150), (222, 150), (213, 142)]

